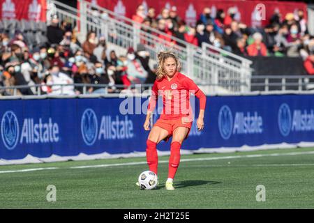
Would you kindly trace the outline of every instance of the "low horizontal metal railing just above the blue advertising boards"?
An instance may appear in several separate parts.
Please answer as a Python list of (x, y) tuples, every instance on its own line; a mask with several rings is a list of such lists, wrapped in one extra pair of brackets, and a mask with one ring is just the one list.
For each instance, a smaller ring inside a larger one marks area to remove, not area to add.
[[(242, 93), (250, 92), (264, 92), (271, 93), (274, 91), (286, 93), (286, 92), (306, 92), (314, 90), (314, 77), (311, 76), (252, 76), (249, 79), (251, 82), (251, 91), (246, 91)], [(246, 82), (240, 82), (238, 79), (229, 80), (228, 82), (215, 82), (211, 84), (199, 84), (201, 89), (206, 89), (207, 87), (227, 87), (232, 86), (233, 88), (241, 88), (246, 84)], [(6, 96), (17, 96), (21, 95), (19, 89), (35, 89), (34, 95), (67, 95), (64, 93), (66, 87), (71, 86), (73, 93), (70, 95), (91, 95), (93, 92), (89, 92), (91, 87), (96, 87), (97, 89), (104, 89), (103, 93), (100, 95), (115, 95), (119, 96), (120, 93), (131, 93), (139, 94), (143, 96), (151, 94), (152, 84), (132, 84), (130, 86), (126, 85), (109, 85), (109, 84), (34, 84), (34, 85), (22, 85), (22, 86), (0, 86), (0, 98), (6, 98)], [(43, 91), (43, 88), (50, 87), (52, 89), (51, 93)], [(10, 92), (10, 93), (8, 93)], [(213, 93), (229, 93), (225, 92), (211, 92)], [(241, 92), (239, 92), (241, 93)]]

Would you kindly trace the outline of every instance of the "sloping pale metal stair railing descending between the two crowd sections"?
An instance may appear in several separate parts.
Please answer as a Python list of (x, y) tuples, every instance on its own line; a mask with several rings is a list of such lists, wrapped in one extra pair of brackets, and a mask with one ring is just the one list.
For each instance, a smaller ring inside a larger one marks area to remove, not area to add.
[[(207, 93), (220, 91), (221, 88), (231, 93), (250, 91), (250, 83), (246, 80), (250, 79), (252, 70), (251, 61), (247, 59), (225, 52), (223, 49), (213, 48), (211, 45), (204, 45), (204, 49), (196, 47), (87, 1), (80, 1), (80, 10), (58, 1), (50, 1), (57, 6), (57, 15), (61, 20), (69, 18), (73, 25), (80, 27), (82, 36), (86, 36), (87, 31), (95, 31), (98, 36), (105, 36), (108, 43), (125, 49), (128, 47), (136, 49), (137, 44), (142, 43), (155, 63), (157, 63), (156, 52), (165, 48), (172, 49), (181, 61), (181, 72), (197, 84), (211, 84), (211, 87), (206, 90)], [(106, 13), (107, 17), (94, 17), (92, 7)], [(158, 36), (169, 38), (177, 44)], [(207, 49), (215, 49), (216, 52)], [(226, 82), (245, 83), (241, 86), (224, 84), (219, 87), (212, 84)]]

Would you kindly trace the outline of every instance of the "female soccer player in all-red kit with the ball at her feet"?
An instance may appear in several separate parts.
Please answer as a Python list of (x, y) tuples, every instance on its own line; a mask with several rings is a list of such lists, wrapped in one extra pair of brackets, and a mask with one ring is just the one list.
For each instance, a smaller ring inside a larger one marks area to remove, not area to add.
[(179, 60), (172, 52), (160, 52), (158, 61), (157, 78), (152, 88), (144, 130), (150, 130), (150, 118), (156, 106), (158, 94), (163, 97), (163, 112), (149, 132), (146, 149), (147, 164), (149, 170), (157, 174), (156, 146), (160, 141), (168, 141), (172, 137), (169, 172), (165, 187), (167, 190), (174, 190), (172, 182), (180, 163), (181, 144), (188, 137), (193, 122), (190, 93), (194, 93), (200, 99), (200, 113), (197, 118), (199, 131), (204, 128), (206, 96), (190, 78), (179, 72)]

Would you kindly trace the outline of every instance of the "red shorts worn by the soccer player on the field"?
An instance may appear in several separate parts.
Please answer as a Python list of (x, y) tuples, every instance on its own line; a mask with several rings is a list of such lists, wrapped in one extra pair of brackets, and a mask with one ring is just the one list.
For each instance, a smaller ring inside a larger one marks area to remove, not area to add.
[[(177, 119), (161, 119), (159, 118), (154, 126), (158, 126), (167, 130), (169, 133), (168, 136), (164, 139), (168, 141), (170, 137), (172, 137), (173, 131), (178, 127), (185, 127), (188, 128), (188, 134), (190, 133), (190, 128), (192, 127), (193, 121), (188, 117), (181, 117)], [(186, 139), (188, 138), (188, 134), (186, 134)]]

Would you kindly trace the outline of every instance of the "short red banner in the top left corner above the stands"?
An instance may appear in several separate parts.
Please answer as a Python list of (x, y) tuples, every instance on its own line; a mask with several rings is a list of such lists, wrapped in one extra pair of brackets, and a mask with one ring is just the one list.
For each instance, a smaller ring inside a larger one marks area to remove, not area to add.
[(1, 20), (46, 21), (46, 0), (0, 0)]

